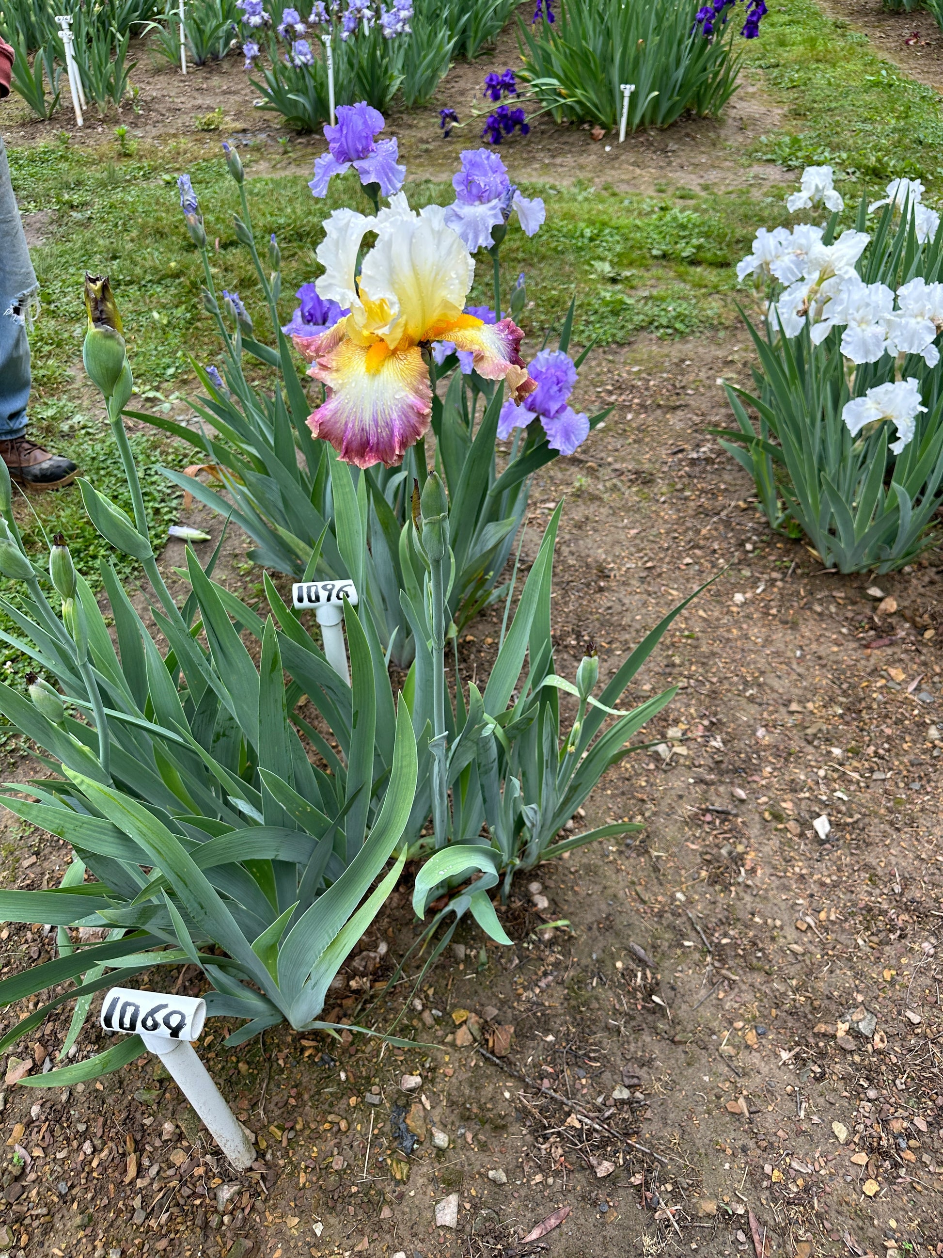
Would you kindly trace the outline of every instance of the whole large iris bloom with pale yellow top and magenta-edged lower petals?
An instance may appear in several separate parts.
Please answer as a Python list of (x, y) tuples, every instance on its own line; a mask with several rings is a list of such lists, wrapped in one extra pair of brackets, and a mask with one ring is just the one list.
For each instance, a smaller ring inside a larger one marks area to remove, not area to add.
[[(474, 370), (505, 381), (516, 403), (536, 387), (521, 359), (521, 328), (509, 318), (489, 325), (464, 313), (475, 264), (444, 215), (440, 205), (415, 213), (400, 192), (375, 218), (346, 209), (324, 223), (317, 250), (324, 274), (316, 288), (351, 313), (318, 336), (293, 340), (312, 364), (308, 375), (327, 389), (308, 426), (358, 468), (394, 467), (426, 434), (433, 390), (422, 348), (434, 341), (472, 352)], [(357, 276), (368, 231), (376, 242)]]

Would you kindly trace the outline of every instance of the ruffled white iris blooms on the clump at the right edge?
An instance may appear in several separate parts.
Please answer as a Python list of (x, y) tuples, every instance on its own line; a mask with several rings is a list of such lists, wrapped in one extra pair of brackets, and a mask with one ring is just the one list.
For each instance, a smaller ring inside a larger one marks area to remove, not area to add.
[[(800, 190), (786, 198), (787, 208), (796, 211), (821, 204), (832, 213), (842, 210), (845, 203), (834, 182), (831, 166), (807, 166)], [(895, 218), (908, 215), (918, 244), (925, 244), (937, 235), (940, 216), (923, 204), (923, 192), (919, 180), (893, 179), (886, 196), (873, 201), (868, 210), (891, 205)], [(855, 366), (878, 362), (885, 353), (894, 359), (895, 374), (908, 353), (935, 367), (935, 341), (943, 331), (943, 283), (928, 284), (918, 277), (896, 293), (886, 284), (866, 284), (858, 262), (870, 235), (847, 229), (825, 244), (825, 230), (810, 223), (772, 231), (761, 228), (752, 253), (737, 265), (741, 282), (752, 277), (758, 288), (775, 297), (767, 307), (773, 331), (782, 330), (792, 338), (807, 326), (812, 343), (821, 345), (834, 328), (842, 328), (840, 348), (850, 380)], [(849, 401), (842, 419), (854, 435), (866, 424), (889, 420), (898, 434), (890, 449), (899, 454), (913, 439), (917, 415), (925, 410), (920, 400), (913, 376), (891, 380)]]

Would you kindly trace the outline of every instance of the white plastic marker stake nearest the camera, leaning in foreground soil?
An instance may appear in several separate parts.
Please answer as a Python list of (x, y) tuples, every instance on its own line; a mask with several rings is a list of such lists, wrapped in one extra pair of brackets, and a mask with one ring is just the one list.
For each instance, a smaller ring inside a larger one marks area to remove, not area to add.
[(199, 1038), (206, 1021), (205, 1000), (112, 988), (102, 1004), (101, 1020), (106, 1030), (137, 1033), (148, 1053), (160, 1057), (233, 1166), (239, 1171), (251, 1166), (255, 1161), (251, 1141), (190, 1043)]

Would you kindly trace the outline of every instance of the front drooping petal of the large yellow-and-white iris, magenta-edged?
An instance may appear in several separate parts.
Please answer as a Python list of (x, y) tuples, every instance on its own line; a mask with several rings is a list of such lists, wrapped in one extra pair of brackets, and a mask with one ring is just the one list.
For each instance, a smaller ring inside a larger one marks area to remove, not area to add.
[(417, 346), (390, 352), (383, 341), (368, 348), (346, 338), (338, 343), (334, 332), (321, 338), (323, 348), (308, 347), (308, 375), (327, 387), (327, 400), (308, 426), (355, 467), (395, 467), (429, 430), (433, 392), (422, 353)]

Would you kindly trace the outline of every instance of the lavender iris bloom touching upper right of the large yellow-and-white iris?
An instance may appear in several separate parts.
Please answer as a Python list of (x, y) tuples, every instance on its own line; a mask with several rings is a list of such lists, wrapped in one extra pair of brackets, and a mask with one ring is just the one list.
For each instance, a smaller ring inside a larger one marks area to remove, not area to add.
[(461, 170), (451, 180), (455, 200), (446, 208), (445, 223), (456, 231), (469, 253), (490, 249), (493, 230), (508, 221), (517, 210), (518, 221), (529, 237), (543, 224), (547, 211), (539, 196), (522, 196), (508, 177), (508, 169), (488, 148), (468, 148), (461, 153)]

